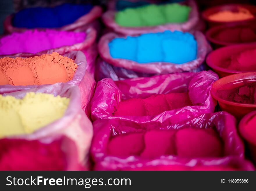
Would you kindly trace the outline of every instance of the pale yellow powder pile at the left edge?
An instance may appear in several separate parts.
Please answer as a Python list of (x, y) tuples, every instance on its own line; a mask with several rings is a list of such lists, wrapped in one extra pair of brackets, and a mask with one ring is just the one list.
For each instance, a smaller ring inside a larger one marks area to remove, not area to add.
[(0, 95), (0, 138), (29, 134), (61, 118), (69, 98), (29, 92), (23, 99)]

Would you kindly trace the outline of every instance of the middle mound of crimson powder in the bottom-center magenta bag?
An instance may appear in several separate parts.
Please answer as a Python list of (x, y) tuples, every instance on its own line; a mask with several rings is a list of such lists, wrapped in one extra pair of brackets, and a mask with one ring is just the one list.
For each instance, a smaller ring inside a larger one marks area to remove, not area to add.
[(145, 133), (145, 149), (141, 156), (154, 158), (161, 155), (175, 155), (175, 132), (152, 130)]

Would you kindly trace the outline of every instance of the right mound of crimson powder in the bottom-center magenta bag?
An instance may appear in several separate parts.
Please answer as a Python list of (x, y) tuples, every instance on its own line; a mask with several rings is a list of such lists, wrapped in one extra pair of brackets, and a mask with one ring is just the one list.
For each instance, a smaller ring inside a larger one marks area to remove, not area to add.
[(220, 157), (222, 144), (213, 129), (185, 128), (176, 133), (179, 157)]

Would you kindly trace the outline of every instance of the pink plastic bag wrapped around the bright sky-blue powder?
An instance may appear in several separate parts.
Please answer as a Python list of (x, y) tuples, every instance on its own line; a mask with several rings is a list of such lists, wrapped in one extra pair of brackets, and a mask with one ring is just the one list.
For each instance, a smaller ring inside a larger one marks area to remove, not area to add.
[[(174, 72), (194, 72), (202, 67), (202, 63), (204, 62), (207, 53), (211, 51), (211, 47), (201, 32), (195, 31), (192, 34), (195, 36), (198, 44), (197, 58), (184, 64), (165, 62), (140, 64), (132, 60), (112, 58), (109, 52), (109, 42), (114, 38), (125, 36), (116, 33), (106, 34), (100, 39), (98, 44), (99, 54), (102, 59), (99, 59), (96, 64), (96, 79), (109, 77), (108, 74), (111, 72), (114, 74), (113, 76), (118, 76), (118, 78), (131, 78), (133, 76), (143, 77)], [(115, 68), (108, 66), (107, 64), (113, 65)], [(116, 69), (116, 67), (123, 69)], [(113, 72), (113, 70), (117, 72)]]

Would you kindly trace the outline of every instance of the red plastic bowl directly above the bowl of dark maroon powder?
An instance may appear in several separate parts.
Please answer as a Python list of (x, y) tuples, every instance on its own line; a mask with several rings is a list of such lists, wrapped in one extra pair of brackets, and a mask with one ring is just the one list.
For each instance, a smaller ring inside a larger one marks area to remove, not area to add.
[(218, 74), (220, 78), (229, 76), (231, 74), (238, 74), (243, 72), (256, 72), (256, 70), (230, 70), (221, 67), (221, 63), (223, 63), (223, 60), (230, 58), (231, 55), (238, 54), (253, 48), (256, 49), (256, 42), (221, 47), (208, 54), (208, 56), (206, 57), (206, 63), (209, 67), (211, 67), (214, 70), (214, 72)]

